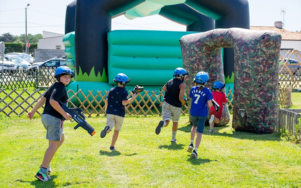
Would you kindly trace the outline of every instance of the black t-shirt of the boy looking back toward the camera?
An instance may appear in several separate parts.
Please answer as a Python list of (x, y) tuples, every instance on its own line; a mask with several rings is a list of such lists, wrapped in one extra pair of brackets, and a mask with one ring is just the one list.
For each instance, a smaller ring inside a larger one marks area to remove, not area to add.
[(68, 93), (65, 86), (60, 82), (55, 82), (50, 88), (44, 93), (43, 97), (46, 98), (45, 108), (43, 114), (49, 114), (56, 118), (61, 119), (63, 116), (57, 112), (49, 103), (50, 99), (55, 101), (61, 100), (63, 103), (67, 104), (68, 101)]

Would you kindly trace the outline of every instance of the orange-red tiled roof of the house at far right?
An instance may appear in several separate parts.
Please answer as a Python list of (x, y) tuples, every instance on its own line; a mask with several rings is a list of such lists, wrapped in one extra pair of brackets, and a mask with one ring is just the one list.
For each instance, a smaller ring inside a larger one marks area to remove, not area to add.
[(285, 29), (280, 29), (272, 26), (250, 26), (251, 30), (272, 30), (277, 31), (281, 34), (282, 40), (288, 41), (300, 41), (301, 40), (301, 32), (291, 32)]

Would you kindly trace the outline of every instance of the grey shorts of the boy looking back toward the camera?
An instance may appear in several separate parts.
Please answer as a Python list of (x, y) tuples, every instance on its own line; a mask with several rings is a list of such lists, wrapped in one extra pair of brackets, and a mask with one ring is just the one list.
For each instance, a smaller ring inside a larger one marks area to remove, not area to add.
[(42, 114), (41, 121), (47, 130), (46, 139), (61, 141), (62, 134), (65, 133), (64, 121), (49, 114)]

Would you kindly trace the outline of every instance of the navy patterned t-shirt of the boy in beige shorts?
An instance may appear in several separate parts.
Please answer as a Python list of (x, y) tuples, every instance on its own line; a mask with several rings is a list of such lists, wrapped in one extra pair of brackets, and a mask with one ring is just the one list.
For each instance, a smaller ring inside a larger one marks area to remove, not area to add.
[(125, 88), (115, 87), (111, 88), (107, 94), (108, 106), (107, 114), (117, 115), (124, 117), (126, 114), (125, 106), (122, 104), (123, 100), (128, 99), (128, 92)]

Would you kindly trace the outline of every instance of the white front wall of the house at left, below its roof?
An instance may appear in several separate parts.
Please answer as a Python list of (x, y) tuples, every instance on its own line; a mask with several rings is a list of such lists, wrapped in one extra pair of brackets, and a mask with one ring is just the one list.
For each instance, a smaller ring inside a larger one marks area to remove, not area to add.
[(60, 50), (65, 50), (65, 46), (63, 44), (63, 36), (39, 39), (38, 49), (56, 50), (57, 46), (60, 47)]

